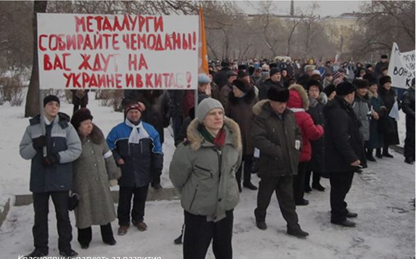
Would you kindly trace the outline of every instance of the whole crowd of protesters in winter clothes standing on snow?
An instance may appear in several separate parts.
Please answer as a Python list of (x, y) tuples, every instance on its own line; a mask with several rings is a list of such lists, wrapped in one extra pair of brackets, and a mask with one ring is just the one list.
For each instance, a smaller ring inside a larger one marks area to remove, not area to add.
[[(205, 258), (211, 240), (216, 258), (232, 258), (234, 208), (244, 187), (258, 192), (259, 229), (267, 229), (275, 192), (288, 235), (306, 237), (296, 206), (308, 206), (304, 192), (324, 192), (320, 178), (329, 178), (331, 222), (354, 227), (349, 218), (357, 213), (347, 209), (345, 196), (355, 173), (376, 159), (392, 158), (389, 148), (399, 144), (400, 108), (406, 113), (405, 162), (415, 161), (415, 79), (398, 98), (387, 71), (385, 55), (374, 67), (300, 60), (210, 62), (209, 74), (198, 75), (197, 92), (125, 90), (124, 120), (107, 137), (92, 123), (86, 92), (73, 92), (71, 119), (59, 112), (58, 97), (45, 97), (43, 117), (31, 119), (20, 144), (21, 156), (32, 160), (35, 250), (28, 257), (49, 253), (49, 197), (62, 256), (78, 254), (70, 244), (70, 209), (83, 249), (92, 240), (93, 225), (101, 226), (105, 244), (116, 244), (111, 226), (116, 217), (118, 235), (127, 234), (130, 223), (146, 231), (148, 187), (162, 188), (162, 144), (169, 125), (177, 147), (169, 177), (184, 208), (184, 258)], [(255, 174), (259, 186), (252, 183)], [(109, 186), (117, 183), (115, 211)]]

